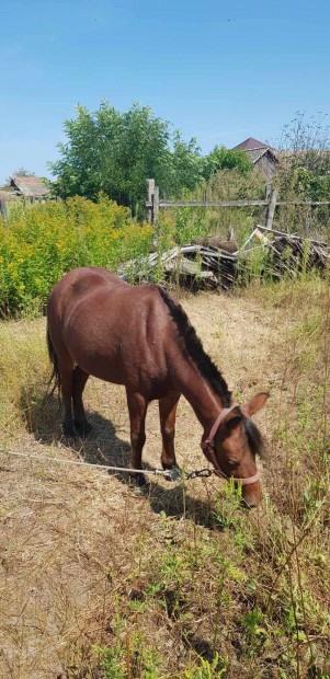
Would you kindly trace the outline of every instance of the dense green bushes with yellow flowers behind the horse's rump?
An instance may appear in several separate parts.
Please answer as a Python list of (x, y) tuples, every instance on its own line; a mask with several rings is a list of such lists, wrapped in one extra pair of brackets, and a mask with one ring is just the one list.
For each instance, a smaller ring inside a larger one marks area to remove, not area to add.
[(78, 266), (106, 266), (149, 252), (152, 229), (127, 208), (99, 197), (13, 206), (0, 221), (0, 311), (45, 306), (53, 285)]

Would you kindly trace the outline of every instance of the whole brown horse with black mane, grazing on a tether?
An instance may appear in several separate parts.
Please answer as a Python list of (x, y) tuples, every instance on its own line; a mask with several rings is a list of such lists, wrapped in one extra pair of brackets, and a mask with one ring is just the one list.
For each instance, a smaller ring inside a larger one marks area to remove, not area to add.
[(159, 400), (161, 463), (174, 469), (175, 412), (183, 394), (204, 429), (202, 449), (216, 473), (241, 482), (250, 507), (259, 504), (255, 453), (262, 452), (262, 438), (250, 416), (269, 394), (260, 393), (244, 406), (234, 403), (182, 307), (161, 287), (132, 286), (106, 268), (73, 269), (53, 288), (47, 319), (52, 377), (61, 389), (66, 436), (75, 428), (80, 435), (91, 431), (82, 392), (93, 375), (126, 388), (133, 469), (141, 469), (148, 403)]

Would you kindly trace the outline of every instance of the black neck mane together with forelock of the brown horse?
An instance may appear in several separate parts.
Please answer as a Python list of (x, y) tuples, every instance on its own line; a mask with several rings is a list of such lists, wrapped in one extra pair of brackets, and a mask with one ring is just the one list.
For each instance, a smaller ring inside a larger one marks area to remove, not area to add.
[[(205, 377), (215, 393), (220, 396), (224, 407), (229, 407), (231, 403), (231, 392), (228, 390), (227, 382), (223, 378), (216, 365), (204, 350), (203, 344), (197, 336), (195, 329), (191, 324), (185, 311), (183, 311), (181, 304), (174, 302), (174, 300), (162, 287), (157, 286), (157, 288), (178, 327), (178, 332), (183, 341), (186, 355), (192, 358), (201, 375)], [(252, 419), (246, 417), (244, 415), (242, 417), (242, 425), (246, 430), (250, 449), (254, 454), (259, 454), (261, 458), (264, 458), (264, 442), (258, 427)]]

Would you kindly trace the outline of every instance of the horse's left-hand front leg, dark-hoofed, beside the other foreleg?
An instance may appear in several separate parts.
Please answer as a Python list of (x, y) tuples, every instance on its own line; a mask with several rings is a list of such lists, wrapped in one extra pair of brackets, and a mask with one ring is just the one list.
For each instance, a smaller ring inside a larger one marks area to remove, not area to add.
[[(135, 392), (126, 389), (127, 405), (130, 421), (130, 464), (132, 469), (141, 469), (143, 448), (146, 442), (146, 414), (148, 408), (148, 402), (146, 399)], [(146, 484), (146, 477), (144, 474), (132, 474), (138, 485)]]

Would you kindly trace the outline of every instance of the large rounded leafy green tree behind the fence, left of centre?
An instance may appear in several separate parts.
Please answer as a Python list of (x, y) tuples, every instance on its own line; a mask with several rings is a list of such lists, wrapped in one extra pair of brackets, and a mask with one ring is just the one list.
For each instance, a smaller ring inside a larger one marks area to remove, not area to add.
[(50, 164), (64, 198), (95, 199), (103, 192), (137, 215), (148, 177), (170, 194), (200, 179), (195, 140), (185, 143), (179, 133), (171, 137), (169, 123), (147, 106), (133, 104), (123, 114), (107, 102), (93, 113), (78, 106), (77, 118), (65, 122), (65, 131), (68, 141), (58, 145), (61, 159)]

